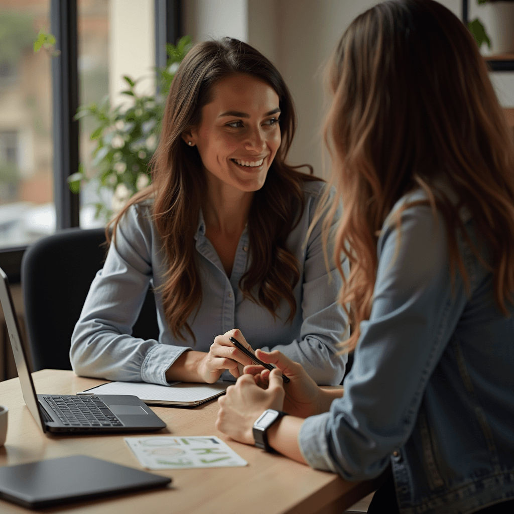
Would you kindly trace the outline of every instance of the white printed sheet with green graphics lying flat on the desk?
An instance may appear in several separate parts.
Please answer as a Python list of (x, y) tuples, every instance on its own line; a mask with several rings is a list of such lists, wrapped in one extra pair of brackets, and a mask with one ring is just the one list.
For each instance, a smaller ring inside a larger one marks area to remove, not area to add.
[(190, 469), (247, 466), (234, 450), (215, 435), (125, 437), (147, 469)]

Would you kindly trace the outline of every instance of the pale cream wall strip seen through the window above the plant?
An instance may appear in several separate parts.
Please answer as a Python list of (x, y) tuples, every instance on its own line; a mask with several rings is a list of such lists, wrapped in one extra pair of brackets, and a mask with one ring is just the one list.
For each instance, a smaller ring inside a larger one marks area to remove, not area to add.
[(154, 0), (109, 1), (109, 96), (116, 107), (130, 103), (123, 75), (138, 82), (139, 94), (155, 93)]

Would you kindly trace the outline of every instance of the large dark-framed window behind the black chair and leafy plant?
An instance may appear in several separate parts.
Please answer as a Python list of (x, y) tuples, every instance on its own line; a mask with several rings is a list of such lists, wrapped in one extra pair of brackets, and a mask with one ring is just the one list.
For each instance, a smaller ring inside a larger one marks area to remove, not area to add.
[[(81, 191), (80, 216), (67, 186), (79, 161), (89, 176), (96, 171), (94, 120), (72, 121), (77, 106), (106, 93), (119, 105), (125, 74), (144, 75), (140, 86), (155, 87), (153, 66), (166, 63), (165, 44), (181, 35), (180, 0), (131, 0), (131, 9), (126, 3), (0, 0), (0, 266), (11, 282), (19, 281), (23, 252), (39, 237), (79, 226), (79, 217), (83, 228), (102, 223), (90, 208), (95, 183)], [(56, 36), (59, 57), (33, 52), (40, 29)]]

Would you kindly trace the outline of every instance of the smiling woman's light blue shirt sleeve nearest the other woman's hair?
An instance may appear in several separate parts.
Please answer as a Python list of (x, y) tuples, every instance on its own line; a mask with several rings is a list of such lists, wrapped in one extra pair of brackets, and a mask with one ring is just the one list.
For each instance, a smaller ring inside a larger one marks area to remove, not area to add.
[[(309, 222), (316, 211), (317, 201), (319, 197), (310, 206)], [(342, 278), (333, 260), (333, 233), (339, 216), (340, 210), (336, 212), (329, 231), (331, 235), (326, 249), (328, 271), (323, 252), (322, 220), (314, 226), (306, 244), (300, 338), (272, 348), (302, 364), (317, 384), (325, 386), (337, 386), (343, 380), (348, 356), (340, 353), (339, 343), (350, 336), (346, 313), (337, 301)], [(349, 268), (346, 260), (342, 268), (347, 276)]]

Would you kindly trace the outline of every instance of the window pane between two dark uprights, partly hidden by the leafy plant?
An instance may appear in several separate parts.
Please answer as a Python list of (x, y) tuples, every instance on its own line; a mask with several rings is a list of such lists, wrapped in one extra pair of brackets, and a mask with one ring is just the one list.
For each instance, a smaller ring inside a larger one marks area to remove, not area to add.
[[(100, 105), (106, 97), (114, 108), (127, 105), (130, 97), (120, 95), (126, 89), (123, 76), (141, 79), (138, 91), (155, 91), (155, 2), (132, 0), (78, 0), (78, 72), (79, 103)], [(98, 172), (91, 152), (96, 141), (90, 135), (98, 126), (91, 117), (79, 122), (80, 162), (87, 177)], [(74, 170), (77, 171), (77, 170)], [(112, 193), (98, 190), (91, 180), (80, 193), (80, 226), (103, 226), (105, 219), (95, 218), (95, 204), (110, 208)]]

